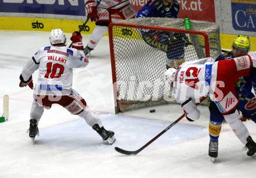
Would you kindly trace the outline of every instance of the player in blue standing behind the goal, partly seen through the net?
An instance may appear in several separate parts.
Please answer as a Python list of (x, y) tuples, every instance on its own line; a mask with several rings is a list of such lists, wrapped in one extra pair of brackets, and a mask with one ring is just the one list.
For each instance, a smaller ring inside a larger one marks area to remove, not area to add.
[[(136, 18), (177, 18), (179, 9), (180, 6), (177, 0), (150, 0), (137, 12)], [(186, 34), (155, 30), (140, 30), (140, 32), (143, 40), (148, 45), (166, 53), (167, 69), (177, 67), (184, 62), (184, 47), (189, 44)]]

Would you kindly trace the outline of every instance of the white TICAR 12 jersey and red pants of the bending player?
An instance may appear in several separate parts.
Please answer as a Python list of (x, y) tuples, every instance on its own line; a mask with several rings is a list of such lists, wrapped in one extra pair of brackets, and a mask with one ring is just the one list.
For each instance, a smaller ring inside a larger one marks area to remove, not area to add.
[[(212, 62), (212, 58), (184, 63), (175, 74), (173, 94), (176, 101), (184, 108), (191, 100), (200, 101), (201, 97), (209, 96), (219, 111), (229, 113), (239, 104), (235, 84), (241, 76), (248, 76), (255, 64), (253, 55), (241, 56), (230, 60)], [(188, 107), (188, 106), (187, 106)], [(187, 111), (188, 112), (188, 111)]]

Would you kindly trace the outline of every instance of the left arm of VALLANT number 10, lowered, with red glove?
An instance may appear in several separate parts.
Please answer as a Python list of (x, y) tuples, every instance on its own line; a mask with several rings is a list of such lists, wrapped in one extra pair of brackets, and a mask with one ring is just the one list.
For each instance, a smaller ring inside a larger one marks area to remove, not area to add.
[(40, 64), (40, 51), (37, 51), (35, 55), (29, 59), (26, 63), (26, 65), (22, 69), (22, 73), (20, 74), (20, 87), (26, 87), (27, 85), (33, 89), (33, 79), (32, 74), (35, 72), (35, 70), (38, 69)]

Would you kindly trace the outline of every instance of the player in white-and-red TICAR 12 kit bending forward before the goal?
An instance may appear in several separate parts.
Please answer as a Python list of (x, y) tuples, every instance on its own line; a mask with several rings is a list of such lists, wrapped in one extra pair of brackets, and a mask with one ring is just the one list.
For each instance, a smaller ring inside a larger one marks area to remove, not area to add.
[(172, 96), (182, 106), (186, 118), (190, 121), (200, 118), (196, 102), (209, 96), (232, 127), (234, 134), (248, 148), (247, 155), (252, 156), (256, 152), (256, 143), (239, 119), (236, 109), (239, 99), (235, 84), (241, 76), (250, 75), (255, 80), (255, 67), (256, 52), (218, 62), (214, 62), (212, 58), (204, 58), (185, 62), (177, 70), (168, 69), (165, 72), (165, 80), (173, 87)]

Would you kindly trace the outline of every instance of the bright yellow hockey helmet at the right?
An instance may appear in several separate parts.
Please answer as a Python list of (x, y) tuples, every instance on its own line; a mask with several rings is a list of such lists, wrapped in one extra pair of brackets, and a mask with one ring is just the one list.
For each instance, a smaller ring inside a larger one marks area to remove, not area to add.
[(232, 49), (249, 52), (251, 49), (250, 37), (245, 35), (238, 35), (238, 37), (233, 41)]

